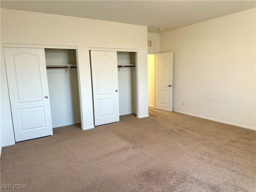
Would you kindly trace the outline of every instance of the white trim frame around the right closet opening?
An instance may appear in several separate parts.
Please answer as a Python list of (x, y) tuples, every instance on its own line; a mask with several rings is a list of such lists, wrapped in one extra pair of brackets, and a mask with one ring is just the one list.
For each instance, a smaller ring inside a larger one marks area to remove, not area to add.
[[(139, 90), (138, 90), (138, 49), (119, 49), (119, 48), (99, 48), (99, 47), (89, 47), (90, 51), (116, 51), (116, 52), (136, 52), (136, 60), (135, 60), (135, 73), (136, 73), (136, 117), (140, 118), (139, 115), (139, 105), (138, 105), (138, 98), (139, 98)], [(91, 69), (92, 70), (92, 69)], [(91, 71), (92, 73), (92, 71)]]

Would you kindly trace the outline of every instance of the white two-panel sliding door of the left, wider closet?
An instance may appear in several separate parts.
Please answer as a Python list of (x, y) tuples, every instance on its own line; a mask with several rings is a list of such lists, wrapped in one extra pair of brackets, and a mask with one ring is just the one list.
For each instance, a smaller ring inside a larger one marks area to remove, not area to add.
[(52, 135), (42, 48), (4, 48), (15, 141)]

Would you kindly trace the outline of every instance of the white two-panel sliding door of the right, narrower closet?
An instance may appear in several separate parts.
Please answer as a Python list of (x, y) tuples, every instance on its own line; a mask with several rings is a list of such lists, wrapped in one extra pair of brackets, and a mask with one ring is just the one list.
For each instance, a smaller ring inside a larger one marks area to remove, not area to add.
[(117, 52), (91, 51), (95, 126), (119, 121)]

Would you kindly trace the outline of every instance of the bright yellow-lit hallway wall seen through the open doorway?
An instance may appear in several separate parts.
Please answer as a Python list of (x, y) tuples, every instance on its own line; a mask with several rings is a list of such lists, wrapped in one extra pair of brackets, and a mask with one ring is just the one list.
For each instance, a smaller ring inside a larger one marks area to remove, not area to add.
[(155, 55), (148, 54), (148, 106), (155, 106)]

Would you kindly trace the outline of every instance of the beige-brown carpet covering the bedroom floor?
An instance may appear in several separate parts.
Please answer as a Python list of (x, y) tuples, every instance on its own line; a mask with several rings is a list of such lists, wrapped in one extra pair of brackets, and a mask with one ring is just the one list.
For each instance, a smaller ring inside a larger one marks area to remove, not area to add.
[[(150, 117), (2, 148), (1, 191), (255, 192), (256, 132), (150, 108)], [(25, 184), (25, 189), (3, 189)]]

